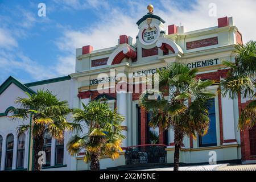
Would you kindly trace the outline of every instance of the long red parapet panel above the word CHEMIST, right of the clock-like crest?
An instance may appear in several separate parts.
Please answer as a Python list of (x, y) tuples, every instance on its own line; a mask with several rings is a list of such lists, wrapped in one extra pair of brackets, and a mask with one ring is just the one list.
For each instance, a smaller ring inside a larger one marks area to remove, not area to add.
[(213, 46), (218, 44), (218, 37), (214, 38), (207, 38), (207, 39), (201, 39), (201, 40), (195, 40), (192, 42), (187, 42), (187, 50), (189, 49), (195, 49), (200, 47), (207, 47), (207, 46)]

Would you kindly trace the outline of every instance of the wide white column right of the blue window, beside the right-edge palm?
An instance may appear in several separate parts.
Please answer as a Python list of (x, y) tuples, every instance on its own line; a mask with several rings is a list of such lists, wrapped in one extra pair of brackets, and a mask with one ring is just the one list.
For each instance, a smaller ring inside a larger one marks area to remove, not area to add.
[(228, 98), (229, 93), (226, 97), (221, 96), (221, 109), (222, 109), (222, 126), (223, 126), (223, 138), (224, 144), (233, 144), (236, 142), (234, 126), (234, 107), (233, 100)]

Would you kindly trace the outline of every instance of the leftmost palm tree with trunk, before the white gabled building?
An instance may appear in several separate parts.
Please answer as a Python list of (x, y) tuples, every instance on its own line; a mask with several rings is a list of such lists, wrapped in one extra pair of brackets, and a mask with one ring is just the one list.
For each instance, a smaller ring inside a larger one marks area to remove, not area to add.
[(44, 134), (53, 138), (63, 139), (64, 131), (75, 129), (73, 123), (68, 123), (65, 117), (71, 112), (67, 101), (59, 101), (49, 90), (38, 90), (35, 94), (27, 94), (27, 98), (18, 98), (15, 102), (20, 106), (12, 110), (11, 118), (26, 121), (31, 117), (29, 125), (20, 125), (17, 133), (31, 130), (34, 140), (34, 170), (40, 171), (42, 164), (38, 162), (39, 151), (43, 151)]

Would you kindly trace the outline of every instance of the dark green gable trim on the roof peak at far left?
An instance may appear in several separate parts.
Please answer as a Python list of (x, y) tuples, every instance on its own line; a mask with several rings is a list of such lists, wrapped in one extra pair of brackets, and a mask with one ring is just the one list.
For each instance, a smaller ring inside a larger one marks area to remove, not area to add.
[(29, 94), (35, 94), (33, 90), (30, 88), (27, 88), (26, 85), (22, 84), (20, 81), (18, 81), (16, 78), (10, 76), (7, 78), (5, 82), (0, 86), (0, 94), (2, 94), (11, 84), (15, 84), (18, 86), (20, 89), (22, 89), (24, 92), (27, 92)]

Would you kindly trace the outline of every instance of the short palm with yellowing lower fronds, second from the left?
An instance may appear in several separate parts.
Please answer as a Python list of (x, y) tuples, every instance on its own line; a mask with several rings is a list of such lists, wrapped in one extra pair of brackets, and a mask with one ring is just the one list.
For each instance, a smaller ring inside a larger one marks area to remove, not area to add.
[(112, 160), (119, 158), (122, 151), (122, 115), (115, 109), (112, 111), (106, 101), (94, 100), (87, 105), (82, 104), (83, 110), (73, 110), (73, 122), (85, 123), (88, 133), (81, 137), (75, 135), (68, 144), (69, 154), (75, 156), (85, 150), (84, 162), (90, 162), (90, 169), (100, 170), (100, 158), (109, 156)]

